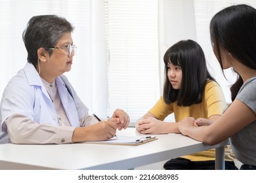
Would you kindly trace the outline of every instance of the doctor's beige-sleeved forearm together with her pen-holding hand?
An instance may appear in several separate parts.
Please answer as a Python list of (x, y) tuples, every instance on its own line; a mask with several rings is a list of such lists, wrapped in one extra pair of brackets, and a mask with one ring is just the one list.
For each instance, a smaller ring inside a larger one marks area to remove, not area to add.
[(87, 127), (37, 124), (20, 114), (5, 120), (9, 138), (14, 144), (64, 144), (104, 141), (116, 135), (117, 123), (101, 121)]

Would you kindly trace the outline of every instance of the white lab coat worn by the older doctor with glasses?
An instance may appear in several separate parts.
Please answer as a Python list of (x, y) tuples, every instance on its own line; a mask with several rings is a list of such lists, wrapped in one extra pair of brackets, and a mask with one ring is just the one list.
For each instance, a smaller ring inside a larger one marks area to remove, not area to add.
[[(79, 119), (88, 114), (88, 108), (79, 99), (66, 76), (58, 76), (56, 85), (70, 124), (79, 127)], [(32, 63), (26, 63), (24, 69), (18, 71), (3, 92), (0, 121), (4, 133), (7, 133), (5, 120), (15, 113), (28, 116), (38, 124), (58, 125), (53, 102)]]

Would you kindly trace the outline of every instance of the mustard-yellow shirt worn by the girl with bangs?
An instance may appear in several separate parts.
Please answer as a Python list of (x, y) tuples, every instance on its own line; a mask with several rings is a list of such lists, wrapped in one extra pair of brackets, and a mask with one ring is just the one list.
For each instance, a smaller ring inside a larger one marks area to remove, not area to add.
[[(176, 101), (175, 103), (167, 105), (163, 101), (163, 97), (160, 97), (159, 101), (149, 110), (149, 112), (154, 114), (158, 120), (164, 120), (169, 114), (174, 112), (175, 122), (179, 122), (187, 117), (193, 117), (196, 119), (209, 118), (213, 115), (221, 115), (225, 109), (226, 102), (221, 87), (213, 80), (209, 80), (205, 85), (201, 103), (194, 104), (189, 107), (181, 107), (177, 105)], [(182, 158), (190, 159), (191, 161), (214, 160), (215, 149), (182, 156)], [(234, 154), (232, 154), (230, 147), (225, 147), (225, 160), (234, 160)]]

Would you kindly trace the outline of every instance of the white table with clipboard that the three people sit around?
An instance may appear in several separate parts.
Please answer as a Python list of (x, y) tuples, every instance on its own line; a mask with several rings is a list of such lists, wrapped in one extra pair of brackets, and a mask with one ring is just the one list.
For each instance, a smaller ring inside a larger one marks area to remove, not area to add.
[[(134, 128), (118, 135), (140, 135)], [(148, 135), (147, 135), (148, 136)], [(159, 161), (216, 148), (216, 169), (224, 169), (224, 146), (207, 146), (181, 134), (154, 135), (139, 146), (110, 144), (0, 144), (0, 169), (134, 169)]]

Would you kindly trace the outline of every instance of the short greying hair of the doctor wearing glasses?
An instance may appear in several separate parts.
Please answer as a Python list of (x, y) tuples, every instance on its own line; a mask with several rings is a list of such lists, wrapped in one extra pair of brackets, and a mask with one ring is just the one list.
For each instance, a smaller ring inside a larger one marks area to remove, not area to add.
[[(74, 27), (65, 18), (56, 15), (33, 16), (22, 34), (28, 62), (37, 64), (37, 50), (56, 45), (64, 33), (71, 33)], [(52, 50), (46, 50), (51, 55)]]

